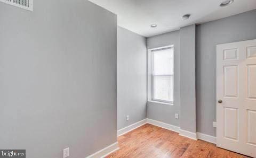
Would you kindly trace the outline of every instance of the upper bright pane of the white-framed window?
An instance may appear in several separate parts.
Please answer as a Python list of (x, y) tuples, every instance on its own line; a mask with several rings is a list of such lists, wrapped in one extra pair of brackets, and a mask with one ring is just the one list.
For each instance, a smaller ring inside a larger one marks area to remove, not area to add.
[(173, 48), (153, 51), (154, 75), (173, 75)]

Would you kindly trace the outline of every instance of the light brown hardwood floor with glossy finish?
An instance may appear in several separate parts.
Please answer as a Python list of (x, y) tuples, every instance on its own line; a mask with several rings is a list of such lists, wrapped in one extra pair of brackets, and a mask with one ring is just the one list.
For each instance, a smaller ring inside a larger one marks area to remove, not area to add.
[(247, 157), (223, 150), (215, 144), (194, 141), (150, 124), (119, 136), (120, 150), (107, 157)]

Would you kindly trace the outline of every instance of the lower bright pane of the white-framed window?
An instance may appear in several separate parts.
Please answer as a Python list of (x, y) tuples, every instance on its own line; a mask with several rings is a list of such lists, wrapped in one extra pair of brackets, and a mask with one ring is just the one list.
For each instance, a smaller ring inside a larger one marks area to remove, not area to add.
[(173, 101), (173, 76), (154, 76), (153, 86), (153, 100)]

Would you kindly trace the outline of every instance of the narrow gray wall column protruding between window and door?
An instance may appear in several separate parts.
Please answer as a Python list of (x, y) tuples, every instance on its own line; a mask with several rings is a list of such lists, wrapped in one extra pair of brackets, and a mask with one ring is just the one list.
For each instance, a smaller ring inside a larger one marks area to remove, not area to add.
[(196, 25), (180, 29), (180, 128), (196, 132)]

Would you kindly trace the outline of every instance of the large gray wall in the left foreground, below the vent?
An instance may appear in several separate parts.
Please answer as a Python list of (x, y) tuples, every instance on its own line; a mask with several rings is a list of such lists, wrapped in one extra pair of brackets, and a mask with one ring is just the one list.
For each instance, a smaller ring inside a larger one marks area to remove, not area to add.
[(81, 158), (115, 143), (116, 15), (44, 0), (0, 3), (0, 22), (0, 148)]

